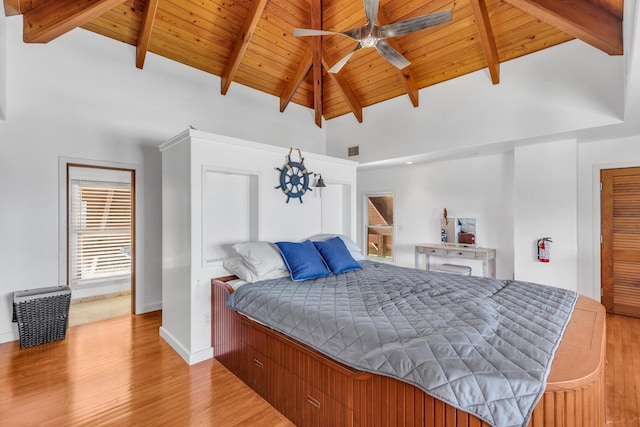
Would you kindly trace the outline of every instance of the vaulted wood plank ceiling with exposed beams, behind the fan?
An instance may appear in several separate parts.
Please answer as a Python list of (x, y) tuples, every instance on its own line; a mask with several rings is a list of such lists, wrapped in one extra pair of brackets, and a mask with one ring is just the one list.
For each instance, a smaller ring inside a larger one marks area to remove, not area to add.
[[(315, 123), (398, 96), (418, 106), (419, 90), (580, 39), (621, 55), (623, 0), (380, 0), (378, 24), (451, 10), (452, 19), (388, 39), (411, 62), (399, 70), (375, 49), (358, 50), (339, 73), (327, 70), (357, 42), (295, 37), (294, 28), (341, 32), (366, 24), (362, 0), (4, 0), (23, 15), (25, 43), (47, 43), (76, 27), (221, 77), (220, 92), (241, 84), (315, 111)], [(232, 94), (228, 95), (232, 96)]]

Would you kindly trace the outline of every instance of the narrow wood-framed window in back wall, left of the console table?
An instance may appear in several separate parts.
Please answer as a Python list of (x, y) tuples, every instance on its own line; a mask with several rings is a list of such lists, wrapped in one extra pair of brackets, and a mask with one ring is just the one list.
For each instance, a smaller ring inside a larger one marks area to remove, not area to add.
[(393, 258), (393, 195), (367, 196), (367, 255)]

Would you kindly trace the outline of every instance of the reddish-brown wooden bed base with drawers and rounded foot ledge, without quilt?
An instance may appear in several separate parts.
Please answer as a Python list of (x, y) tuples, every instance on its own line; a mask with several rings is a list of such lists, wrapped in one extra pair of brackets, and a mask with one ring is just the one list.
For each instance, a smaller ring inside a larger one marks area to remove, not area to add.
[[(214, 356), (298, 426), (487, 426), (417, 387), (344, 366), (225, 306), (227, 276), (211, 281)], [(605, 424), (605, 310), (580, 296), (531, 427)]]

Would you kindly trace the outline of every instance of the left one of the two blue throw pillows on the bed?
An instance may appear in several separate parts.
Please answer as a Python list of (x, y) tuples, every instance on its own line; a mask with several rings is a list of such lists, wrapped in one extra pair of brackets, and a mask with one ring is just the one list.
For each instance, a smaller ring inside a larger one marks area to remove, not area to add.
[(331, 274), (311, 241), (277, 242), (276, 245), (291, 273), (291, 280), (315, 279)]

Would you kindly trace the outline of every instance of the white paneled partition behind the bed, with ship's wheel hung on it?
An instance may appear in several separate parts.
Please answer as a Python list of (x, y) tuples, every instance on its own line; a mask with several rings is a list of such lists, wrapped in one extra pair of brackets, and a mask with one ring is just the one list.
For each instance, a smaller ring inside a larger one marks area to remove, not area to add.
[(318, 233), (355, 240), (357, 163), (303, 151), (307, 170), (321, 173), (327, 186), (311, 187), (302, 203), (287, 203), (276, 188), (276, 168), (289, 148), (188, 129), (160, 151), (160, 335), (194, 364), (213, 356), (209, 283), (229, 274), (222, 264), (234, 255), (233, 243), (298, 241)]

